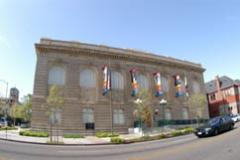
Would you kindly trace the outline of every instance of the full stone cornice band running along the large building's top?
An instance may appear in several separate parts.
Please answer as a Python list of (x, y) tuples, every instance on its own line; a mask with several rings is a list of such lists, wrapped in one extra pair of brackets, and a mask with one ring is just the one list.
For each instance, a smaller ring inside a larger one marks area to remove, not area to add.
[(50, 51), (61, 51), (69, 54), (85, 54), (100, 57), (111, 57), (124, 59), (138, 63), (164, 64), (167, 66), (178, 67), (204, 72), (200, 64), (150, 54), (147, 52), (114, 48), (103, 45), (93, 45), (80, 42), (59, 41), (51, 39), (41, 39), (40, 43), (35, 44), (37, 53), (46, 53)]

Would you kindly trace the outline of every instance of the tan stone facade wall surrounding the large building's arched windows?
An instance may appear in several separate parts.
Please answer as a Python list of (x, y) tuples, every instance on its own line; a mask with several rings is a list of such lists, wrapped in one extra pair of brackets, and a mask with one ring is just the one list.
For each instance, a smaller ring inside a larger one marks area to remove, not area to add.
[[(48, 40), (51, 41), (51, 40)], [(47, 42), (48, 42), (47, 41)], [(55, 41), (53, 41), (55, 42)], [(129, 70), (137, 68), (140, 73), (148, 78), (149, 93), (151, 93), (151, 102), (153, 111), (158, 108), (160, 111), (160, 118), (163, 118), (163, 107), (160, 106), (159, 101), (166, 99), (168, 105), (166, 107), (171, 109), (173, 119), (181, 119), (185, 99), (183, 97), (175, 97), (175, 87), (172, 76), (179, 74), (180, 76), (187, 76), (189, 83), (189, 92), (193, 93), (192, 82), (199, 83), (200, 92), (205, 94), (203, 71), (200, 65), (187, 63), (184, 61), (177, 61), (169, 59), (166, 60), (150, 60), (141, 59), (141, 53), (133, 57), (122, 57), (122, 50), (120, 53), (108, 55), (96, 48), (89, 47), (81, 48), (76, 46), (67, 47), (69, 42), (49, 44), (36, 44), (37, 65), (35, 72), (34, 94), (33, 94), (33, 118), (32, 127), (34, 129), (48, 129), (48, 116), (42, 105), (46, 101), (49, 92), (48, 72), (52, 66), (62, 66), (66, 72), (65, 85), (61, 86), (62, 95), (65, 99), (65, 106), (62, 111), (62, 121), (59, 125), (60, 129), (65, 129), (65, 132), (81, 132), (92, 134), (98, 130), (111, 130), (112, 118), (110, 108), (110, 97), (102, 96), (103, 73), (102, 67), (109, 64), (112, 70), (118, 71), (123, 75), (124, 90), (113, 90), (111, 106), (112, 109), (123, 109), (125, 116), (124, 125), (114, 125), (114, 131), (127, 132), (127, 129), (133, 127), (134, 118), (134, 97), (131, 97), (131, 79)], [(64, 44), (64, 45), (63, 45)], [(71, 44), (71, 43), (70, 43)], [(110, 49), (109, 49), (110, 50)], [(136, 54), (136, 53), (134, 53)], [(128, 55), (128, 54), (126, 54)], [(130, 55), (129, 55), (130, 56)], [(132, 56), (132, 54), (131, 54)], [(159, 58), (159, 56), (155, 56)], [(171, 62), (172, 60), (172, 62)], [(176, 63), (176, 61), (178, 63)], [(180, 63), (181, 62), (181, 63)], [(186, 64), (184, 64), (186, 63)], [(91, 68), (96, 73), (96, 88), (82, 88), (79, 85), (80, 71), (84, 68)], [(155, 97), (155, 86), (152, 73), (159, 71), (161, 75), (166, 77), (169, 84), (169, 91), (163, 97)], [(94, 110), (95, 130), (86, 131), (82, 120), (83, 108), (90, 107)], [(189, 113), (190, 114), (190, 113)], [(189, 115), (193, 118), (195, 115)], [(203, 118), (208, 118), (208, 109), (203, 110)]]

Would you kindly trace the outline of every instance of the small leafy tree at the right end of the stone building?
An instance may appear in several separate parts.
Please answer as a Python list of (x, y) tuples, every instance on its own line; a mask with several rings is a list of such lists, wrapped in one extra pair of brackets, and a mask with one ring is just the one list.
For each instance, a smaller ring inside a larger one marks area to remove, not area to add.
[(206, 95), (201, 93), (192, 94), (187, 99), (187, 105), (189, 107), (189, 111), (195, 115), (197, 119), (197, 124), (200, 118), (202, 118), (201, 112), (207, 106)]

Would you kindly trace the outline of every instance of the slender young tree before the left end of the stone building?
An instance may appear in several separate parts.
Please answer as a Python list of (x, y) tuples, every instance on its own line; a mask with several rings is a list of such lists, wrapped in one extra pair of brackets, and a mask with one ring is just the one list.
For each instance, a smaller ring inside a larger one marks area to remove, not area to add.
[(64, 99), (60, 96), (60, 90), (56, 85), (50, 87), (49, 96), (43, 107), (46, 109), (46, 115), (50, 122), (50, 141), (52, 142), (52, 125), (59, 124), (56, 114), (59, 113), (64, 106)]

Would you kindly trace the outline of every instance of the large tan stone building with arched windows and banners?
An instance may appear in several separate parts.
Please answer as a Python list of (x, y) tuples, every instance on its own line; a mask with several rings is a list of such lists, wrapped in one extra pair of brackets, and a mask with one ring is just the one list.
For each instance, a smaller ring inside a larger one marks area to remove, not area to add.
[[(135, 71), (139, 89), (145, 88), (150, 93), (153, 120), (157, 122), (164, 119), (187, 121), (196, 117), (189, 111), (186, 97), (176, 94), (174, 78), (185, 93), (205, 94), (204, 69), (200, 64), (131, 49), (51, 39), (41, 39), (35, 47), (33, 129), (49, 128), (46, 110), (41, 106), (52, 84), (59, 86), (65, 100), (62, 111), (56, 115), (58, 127), (64, 132), (87, 134), (112, 128), (127, 132), (134, 127), (136, 97), (131, 96), (133, 76), (130, 71)], [(104, 66), (111, 69), (112, 82), (111, 94), (105, 96), (102, 94)], [(153, 73), (161, 74), (161, 88), (156, 87)], [(161, 89), (157, 97), (156, 88)], [(208, 119), (207, 105), (199, 112), (203, 119)]]

